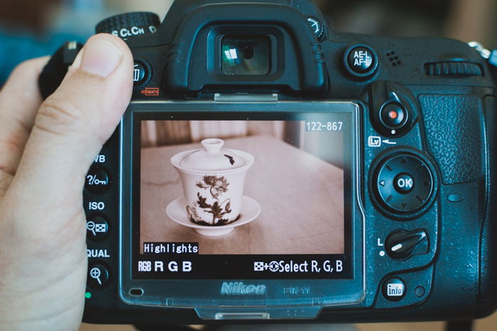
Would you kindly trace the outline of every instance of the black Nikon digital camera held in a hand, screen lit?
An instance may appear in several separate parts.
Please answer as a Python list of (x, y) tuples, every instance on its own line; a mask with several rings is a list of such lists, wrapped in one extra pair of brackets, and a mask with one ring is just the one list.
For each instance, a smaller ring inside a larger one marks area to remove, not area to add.
[(308, 0), (175, 1), (97, 32), (128, 43), (134, 91), (86, 177), (84, 321), (496, 309), (497, 99), (474, 47), (337, 33)]

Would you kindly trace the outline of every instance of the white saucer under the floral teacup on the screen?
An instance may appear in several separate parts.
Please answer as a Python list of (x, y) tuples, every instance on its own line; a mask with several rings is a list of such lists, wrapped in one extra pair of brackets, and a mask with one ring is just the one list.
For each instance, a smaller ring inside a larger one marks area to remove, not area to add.
[(194, 228), (195, 231), (201, 235), (207, 235), (209, 237), (227, 235), (229, 232), (233, 231), (235, 227), (249, 223), (261, 213), (261, 206), (257, 201), (253, 200), (253, 198), (249, 198), (249, 196), (243, 196), (241, 201), (240, 217), (238, 220), (226, 225), (207, 226), (190, 222), (187, 218), (185, 206), (185, 198), (177, 198), (168, 204), (168, 207), (165, 208), (165, 213), (168, 214), (169, 218), (174, 220), (176, 223), (185, 225), (189, 228)]

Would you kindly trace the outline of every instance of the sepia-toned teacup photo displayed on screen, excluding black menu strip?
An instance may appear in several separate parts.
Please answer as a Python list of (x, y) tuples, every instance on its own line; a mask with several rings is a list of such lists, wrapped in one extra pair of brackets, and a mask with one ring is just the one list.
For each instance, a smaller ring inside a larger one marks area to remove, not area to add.
[(305, 121), (143, 121), (141, 253), (343, 254), (343, 140)]

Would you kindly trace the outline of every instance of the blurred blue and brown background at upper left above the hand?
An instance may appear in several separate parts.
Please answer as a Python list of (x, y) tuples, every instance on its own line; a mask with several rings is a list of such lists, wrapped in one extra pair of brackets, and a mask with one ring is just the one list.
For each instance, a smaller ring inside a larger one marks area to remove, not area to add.
[(172, 0), (0, 0), (0, 86), (23, 60), (52, 55), (68, 40), (84, 43), (102, 19), (126, 11), (161, 18)]

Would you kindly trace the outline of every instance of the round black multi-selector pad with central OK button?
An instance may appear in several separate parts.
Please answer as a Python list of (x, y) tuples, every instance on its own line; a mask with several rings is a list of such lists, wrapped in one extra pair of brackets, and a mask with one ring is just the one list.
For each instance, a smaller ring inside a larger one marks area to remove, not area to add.
[(420, 157), (398, 153), (384, 159), (376, 168), (373, 191), (388, 211), (414, 213), (430, 201), (434, 191), (433, 174)]

